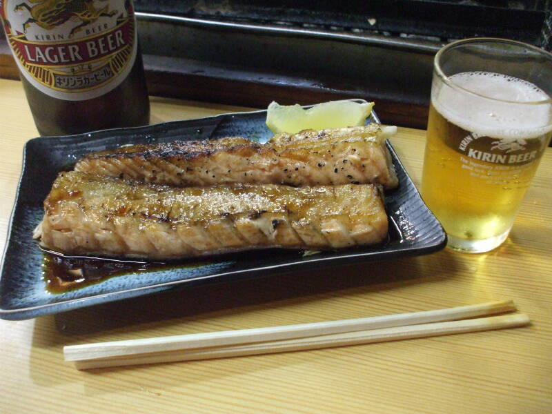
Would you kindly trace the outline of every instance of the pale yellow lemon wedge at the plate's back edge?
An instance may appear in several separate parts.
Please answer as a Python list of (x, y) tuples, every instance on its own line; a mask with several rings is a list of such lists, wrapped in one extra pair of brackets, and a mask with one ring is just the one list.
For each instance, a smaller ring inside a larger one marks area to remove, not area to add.
[(273, 101), (266, 112), (266, 126), (274, 133), (290, 134), (304, 129), (360, 126), (364, 125), (373, 106), (373, 102), (330, 101), (305, 110), (298, 104), (279, 105)]

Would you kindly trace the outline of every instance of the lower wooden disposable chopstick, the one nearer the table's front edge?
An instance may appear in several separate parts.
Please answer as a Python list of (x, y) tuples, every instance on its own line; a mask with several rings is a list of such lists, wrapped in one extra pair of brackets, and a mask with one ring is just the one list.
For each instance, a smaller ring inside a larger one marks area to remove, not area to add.
[(153, 364), (159, 362), (190, 361), (195, 359), (215, 359), (238, 357), (245, 355), (260, 355), (289, 351), (304, 351), (306, 349), (329, 348), (358, 344), (373, 344), (375, 342), (397, 341), (457, 333), (491, 331), (494, 329), (515, 328), (529, 324), (527, 315), (502, 315), (464, 319), (452, 322), (435, 322), (410, 326), (395, 326), (393, 328), (372, 329), (331, 335), (319, 335), (279, 341), (257, 342), (246, 345), (219, 346), (215, 348), (196, 348), (161, 353), (146, 353), (142, 355), (126, 355), (75, 361), (78, 369), (102, 368), (108, 366), (128, 366), (137, 364)]

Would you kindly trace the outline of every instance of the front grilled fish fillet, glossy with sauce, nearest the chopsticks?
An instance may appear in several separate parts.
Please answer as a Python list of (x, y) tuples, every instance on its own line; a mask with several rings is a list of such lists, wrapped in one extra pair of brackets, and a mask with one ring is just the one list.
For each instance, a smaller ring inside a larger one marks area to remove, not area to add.
[(35, 237), (68, 255), (171, 259), (376, 244), (387, 228), (373, 184), (178, 188), (71, 171), (55, 180)]

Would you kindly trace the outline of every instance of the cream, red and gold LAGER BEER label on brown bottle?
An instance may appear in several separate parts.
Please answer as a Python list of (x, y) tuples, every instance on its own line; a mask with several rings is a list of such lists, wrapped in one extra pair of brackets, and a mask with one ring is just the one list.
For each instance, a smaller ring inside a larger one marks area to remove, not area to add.
[(51, 97), (99, 97), (134, 65), (130, 0), (0, 0), (0, 13), (19, 70)]

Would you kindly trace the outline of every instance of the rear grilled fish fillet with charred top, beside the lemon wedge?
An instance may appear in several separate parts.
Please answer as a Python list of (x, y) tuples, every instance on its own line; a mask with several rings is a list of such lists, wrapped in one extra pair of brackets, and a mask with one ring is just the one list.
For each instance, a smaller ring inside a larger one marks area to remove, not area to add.
[(252, 183), (316, 186), (398, 184), (385, 139), (395, 127), (305, 130), (266, 144), (234, 137), (92, 152), (76, 171), (173, 186)]

